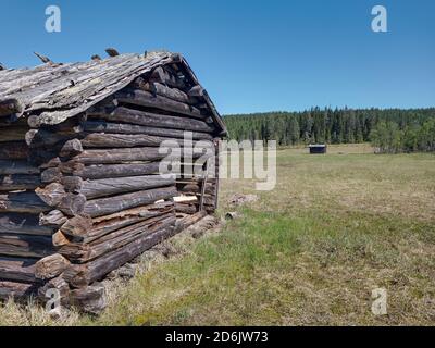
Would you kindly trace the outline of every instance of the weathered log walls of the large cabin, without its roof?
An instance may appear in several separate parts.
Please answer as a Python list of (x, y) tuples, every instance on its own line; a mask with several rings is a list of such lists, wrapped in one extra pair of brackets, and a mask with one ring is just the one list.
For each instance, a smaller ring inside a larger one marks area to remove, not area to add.
[(158, 67), (63, 124), (1, 125), (0, 298), (54, 288), (98, 308), (96, 282), (212, 213), (219, 132), (202, 96)]

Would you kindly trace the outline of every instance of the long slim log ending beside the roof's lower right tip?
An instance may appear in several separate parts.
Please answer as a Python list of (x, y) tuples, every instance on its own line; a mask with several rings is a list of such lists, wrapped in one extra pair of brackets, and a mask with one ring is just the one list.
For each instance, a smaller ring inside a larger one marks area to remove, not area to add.
[[(183, 139), (186, 130), (140, 126), (137, 124), (111, 123), (105, 121), (87, 121), (83, 124), (85, 132), (99, 132), (109, 134), (144, 134), (161, 137)], [(194, 140), (212, 140), (212, 135), (201, 132), (192, 132)]]

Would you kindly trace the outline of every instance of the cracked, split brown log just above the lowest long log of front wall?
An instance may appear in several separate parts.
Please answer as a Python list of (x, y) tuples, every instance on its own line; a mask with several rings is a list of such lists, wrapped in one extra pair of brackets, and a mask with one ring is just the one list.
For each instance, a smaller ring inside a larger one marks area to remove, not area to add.
[(59, 249), (59, 252), (65, 256), (69, 260), (77, 263), (85, 263), (96, 258), (99, 258), (110, 251), (120, 249), (137, 238), (147, 234), (152, 234), (156, 231), (167, 228), (175, 225), (175, 215), (165, 214), (149, 219), (123, 228), (120, 228), (111, 234), (92, 241), (91, 244), (72, 243)]

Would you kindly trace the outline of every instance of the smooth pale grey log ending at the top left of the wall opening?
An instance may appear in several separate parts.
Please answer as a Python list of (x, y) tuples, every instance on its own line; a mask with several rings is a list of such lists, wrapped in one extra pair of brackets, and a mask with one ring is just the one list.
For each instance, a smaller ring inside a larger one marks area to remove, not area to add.
[(73, 178), (74, 181), (71, 181), (71, 187), (69, 187), (67, 183), (63, 183), (65, 189), (74, 191), (75, 194), (82, 194), (88, 200), (175, 185), (175, 176), (165, 178), (160, 175), (101, 178), (95, 181), (84, 181), (78, 176), (74, 176)]

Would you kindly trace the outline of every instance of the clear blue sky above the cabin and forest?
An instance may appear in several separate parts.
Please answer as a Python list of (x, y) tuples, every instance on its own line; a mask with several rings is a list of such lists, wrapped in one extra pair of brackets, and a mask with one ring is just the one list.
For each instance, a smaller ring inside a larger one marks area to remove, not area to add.
[[(45, 9), (62, 32), (45, 30)], [(371, 9), (388, 10), (388, 33)], [(435, 105), (434, 0), (0, 0), (0, 62), (89, 60), (104, 48), (183, 53), (222, 114), (312, 105)]]

